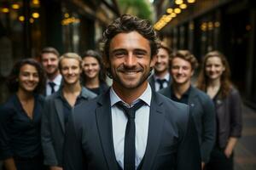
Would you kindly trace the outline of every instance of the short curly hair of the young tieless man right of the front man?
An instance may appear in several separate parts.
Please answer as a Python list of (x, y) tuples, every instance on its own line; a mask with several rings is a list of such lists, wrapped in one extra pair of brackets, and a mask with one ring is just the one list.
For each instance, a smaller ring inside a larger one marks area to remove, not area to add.
[(181, 49), (181, 50), (177, 50), (176, 53), (173, 53), (170, 58), (170, 68), (172, 67), (172, 59), (174, 58), (181, 58), (188, 61), (193, 71), (195, 71), (195, 69), (198, 67), (197, 59), (193, 54), (189, 52), (189, 50)]

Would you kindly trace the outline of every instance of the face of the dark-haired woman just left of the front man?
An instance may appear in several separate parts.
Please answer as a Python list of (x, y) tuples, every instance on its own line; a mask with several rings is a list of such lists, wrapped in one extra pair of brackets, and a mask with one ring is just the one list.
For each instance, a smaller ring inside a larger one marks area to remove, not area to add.
[(94, 57), (85, 57), (83, 60), (85, 76), (90, 79), (98, 77), (101, 68), (97, 59)]

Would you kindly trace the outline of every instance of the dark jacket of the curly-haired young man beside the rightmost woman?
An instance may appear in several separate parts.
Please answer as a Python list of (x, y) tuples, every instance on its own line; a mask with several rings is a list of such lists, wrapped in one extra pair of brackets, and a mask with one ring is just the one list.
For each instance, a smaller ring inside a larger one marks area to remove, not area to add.
[[(167, 98), (172, 97), (172, 88), (168, 86), (159, 91)], [(201, 90), (191, 86), (189, 91), (188, 105), (194, 117), (195, 127), (201, 144), (201, 159), (209, 161), (210, 154), (215, 144), (216, 114), (212, 99)]]

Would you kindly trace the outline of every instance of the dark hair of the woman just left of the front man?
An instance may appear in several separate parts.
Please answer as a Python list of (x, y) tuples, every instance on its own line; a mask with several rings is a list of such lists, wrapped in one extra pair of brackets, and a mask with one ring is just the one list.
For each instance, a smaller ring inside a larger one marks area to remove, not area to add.
[[(99, 72), (99, 80), (100, 83), (104, 83), (106, 82), (106, 74), (105, 74), (105, 70), (104, 70), (104, 65), (103, 65), (103, 61), (102, 61), (102, 56), (101, 54), (99, 54), (97, 51), (89, 49), (87, 51), (84, 52), (84, 54), (82, 55), (82, 59), (86, 58), (86, 57), (93, 57), (98, 61), (98, 64), (100, 65), (100, 72)], [(82, 72), (82, 81), (85, 83), (86, 82), (86, 76), (84, 74), (84, 71)]]

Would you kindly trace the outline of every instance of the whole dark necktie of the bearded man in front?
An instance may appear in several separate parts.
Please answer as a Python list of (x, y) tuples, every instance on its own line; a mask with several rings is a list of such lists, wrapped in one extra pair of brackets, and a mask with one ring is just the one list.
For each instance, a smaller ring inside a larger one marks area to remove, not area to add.
[(125, 112), (128, 122), (125, 128), (125, 154), (124, 154), (124, 170), (135, 170), (135, 113), (144, 105), (143, 100), (139, 100), (137, 104), (131, 108), (126, 107), (121, 101), (117, 103), (118, 107)]

